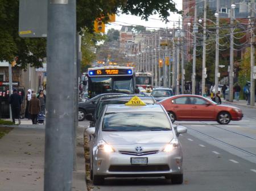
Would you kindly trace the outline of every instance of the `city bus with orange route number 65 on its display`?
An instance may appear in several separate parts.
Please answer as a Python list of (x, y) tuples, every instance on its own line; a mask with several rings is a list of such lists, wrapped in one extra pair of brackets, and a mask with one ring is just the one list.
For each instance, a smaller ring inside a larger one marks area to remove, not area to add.
[(133, 67), (103, 66), (88, 69), (89, 99), (106, 93), (135, 94)]

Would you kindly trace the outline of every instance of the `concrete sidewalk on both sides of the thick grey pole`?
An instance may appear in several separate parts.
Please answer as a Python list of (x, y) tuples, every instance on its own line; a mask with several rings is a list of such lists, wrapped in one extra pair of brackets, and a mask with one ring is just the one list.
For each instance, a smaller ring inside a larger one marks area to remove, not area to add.
[[(1, 191), (43, 191), (44, 126), (30, 126), (31, 128), (15, 127), (0, 139)], [(87, 190), (84, 129), (80, 126), (77, 130), (77, 171), (73, 172), (72, 191)]]

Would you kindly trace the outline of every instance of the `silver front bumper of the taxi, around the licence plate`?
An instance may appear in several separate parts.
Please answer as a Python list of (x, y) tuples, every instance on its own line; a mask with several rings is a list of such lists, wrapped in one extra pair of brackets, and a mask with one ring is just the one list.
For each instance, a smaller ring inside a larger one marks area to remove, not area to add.
[[(131, 164), (131, 158), (148, 158), (148, 164)], [(94, 175), (105, 177), (164, 176), (183, 173), (181, 149), (172, 152), (134, 156), (119, 151), (106, 153), (96, 150), (93, 157)]]

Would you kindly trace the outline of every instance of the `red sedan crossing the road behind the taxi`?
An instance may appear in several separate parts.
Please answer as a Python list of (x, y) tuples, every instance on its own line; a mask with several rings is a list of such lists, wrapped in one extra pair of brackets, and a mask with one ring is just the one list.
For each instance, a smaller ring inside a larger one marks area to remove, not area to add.
[(240, 108), (218, 105), (199, 95), (176, 95), (158, 102), (169, 113), (172, 122), (176, 121), (217, 121), (229, 124), (231, 120), (242, 120)]

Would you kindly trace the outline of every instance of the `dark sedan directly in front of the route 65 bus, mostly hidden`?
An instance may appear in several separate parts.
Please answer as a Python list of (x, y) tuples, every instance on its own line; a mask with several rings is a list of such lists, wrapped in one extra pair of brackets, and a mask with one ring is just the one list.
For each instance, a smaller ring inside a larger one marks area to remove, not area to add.
[(117, 93), (109, 93), (109, 94), (100, 94), (92, 99), (86, 100), (84, 102), (79, 102), (79, 121), (84, 121), (85, 115), (88, 113), (94, 113), (96, 104), (101, 99), (101, 97), (109, 96), (109, 95), (126, 95), (126, 94), (117, 94)]

